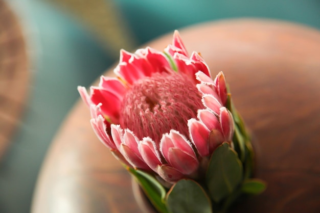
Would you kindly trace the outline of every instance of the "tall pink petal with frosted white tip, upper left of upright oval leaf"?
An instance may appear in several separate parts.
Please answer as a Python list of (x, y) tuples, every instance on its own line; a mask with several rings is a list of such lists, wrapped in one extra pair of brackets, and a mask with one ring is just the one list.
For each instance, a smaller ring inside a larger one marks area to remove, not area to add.
[(209, 155), (209, 133), (210, 130), (205, 127), (200, 121), (192, 118), (188, 121), (189, 131), (192, 143), (198, 150), (198, 153), (201, 156), (208, 156)]

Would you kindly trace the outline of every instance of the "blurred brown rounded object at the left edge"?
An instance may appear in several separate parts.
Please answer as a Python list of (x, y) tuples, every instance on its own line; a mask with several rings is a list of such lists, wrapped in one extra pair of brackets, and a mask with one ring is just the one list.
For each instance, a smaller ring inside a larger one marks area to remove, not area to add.
[(18, 19), (0, 0), (0, 160), (25, 108), (28, 68), (25, 38)]

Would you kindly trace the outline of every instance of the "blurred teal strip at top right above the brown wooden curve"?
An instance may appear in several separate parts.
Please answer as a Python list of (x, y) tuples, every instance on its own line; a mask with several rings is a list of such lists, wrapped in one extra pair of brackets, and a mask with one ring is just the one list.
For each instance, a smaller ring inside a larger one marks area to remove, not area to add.
[(281, 19), (320, 29), (319, 0), (117, 0), (116, 3), (140, 43), (182, 26), (225, 18)]

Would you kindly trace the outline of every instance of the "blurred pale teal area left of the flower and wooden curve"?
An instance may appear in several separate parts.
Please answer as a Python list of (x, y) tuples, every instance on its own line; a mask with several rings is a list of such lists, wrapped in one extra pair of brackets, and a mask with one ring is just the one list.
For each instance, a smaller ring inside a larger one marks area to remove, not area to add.
[(22, 124), (0, 161), (1, 213), (30, 212), (43, 157), (79, 98), (77, 86), (89, 86), (114, 62), (72, 17), (39, 1), (22, 1), (13, 6), (25, 13), (32, 80)]

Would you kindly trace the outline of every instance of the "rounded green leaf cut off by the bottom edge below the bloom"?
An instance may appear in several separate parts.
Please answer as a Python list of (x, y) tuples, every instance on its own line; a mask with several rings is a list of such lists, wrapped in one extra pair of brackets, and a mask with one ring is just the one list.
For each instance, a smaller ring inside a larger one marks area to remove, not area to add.
[(167, 203), (172, 213), (212, 213), (207, 193), (199, 183), (191, 179), (176, 182), (168, 193)]

